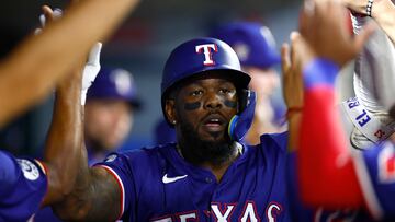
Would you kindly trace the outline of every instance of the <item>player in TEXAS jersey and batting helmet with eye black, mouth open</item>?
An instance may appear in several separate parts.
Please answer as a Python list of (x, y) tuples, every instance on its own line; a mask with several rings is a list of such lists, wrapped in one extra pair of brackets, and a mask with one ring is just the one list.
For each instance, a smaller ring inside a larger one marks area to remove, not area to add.
[(74, 221), (290, 221), (286, 133), (240, 142), (253, 118), (249, 81), (224, 42), (178, 46), (161, 83), (177, 143), (113, 153), (91, 168), (84, 160), (56, 212)]

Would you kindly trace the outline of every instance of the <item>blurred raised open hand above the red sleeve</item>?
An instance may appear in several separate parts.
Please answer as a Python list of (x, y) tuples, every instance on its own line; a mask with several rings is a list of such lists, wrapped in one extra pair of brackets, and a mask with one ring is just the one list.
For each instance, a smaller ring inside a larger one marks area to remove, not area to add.
[(349, 32), (349, 14), (338, 1), (305, 3), (300, 17), (300, 31), (317, 57), (335, 61), (339, 67), (353, 59), (374, 31), (368, 24), (358, 36)]

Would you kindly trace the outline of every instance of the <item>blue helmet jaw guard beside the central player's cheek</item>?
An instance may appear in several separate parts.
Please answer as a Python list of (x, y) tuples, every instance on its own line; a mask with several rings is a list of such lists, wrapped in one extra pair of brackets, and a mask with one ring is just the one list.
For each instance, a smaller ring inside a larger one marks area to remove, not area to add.
[(239, 97), (239, 112), (228, 125), (228, 135), (234, 141), (241, 141), (250, 129), (253, 120), (257, 95), (253, 91), (241, 90)]

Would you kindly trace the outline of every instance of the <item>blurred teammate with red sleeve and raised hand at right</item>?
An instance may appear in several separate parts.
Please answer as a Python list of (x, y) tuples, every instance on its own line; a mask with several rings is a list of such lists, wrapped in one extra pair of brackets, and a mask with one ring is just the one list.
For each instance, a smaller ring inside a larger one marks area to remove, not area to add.
[[(356, 42), (341, 38), (340, 35), (331, 35), (329, 38), (324, 35), (324, 28), (328, 26), (319, 25), (330, 23), (330, 19), (324, 14), (330, 13), (336, 17), (341, 16), (341, 12), (332, 2), (328, 3), (329, 8), (325, 11), (323, 5), (316, 3), (315, 13), (305, 14), (302, 25), (304, 31), (312, 31), (309, 35), (303, 34), (314, 54), (313, 61), (304, 67), (305, 110), (297, 151), (301, 194), (311, 206), (329, 209), (368, 207), (375, 219), (391, 220), (395, 212), (392, 203), (395, 190), (392, 173), (394, 144), (384, 142), (363, 152), (350, 151), (340, 118), (331, 108), (335, 104), (334, 81), (338, 67), (357, 55), (369, 31), (357, 37)], [(306, 21), (306, 16), (311, 16), (316, 26)], [(312, 33), (316, 35), (312, 36)], [(339, 45), (327, 48), (325, 45), (332, 42), (334, 37)], [(393, 116), (394, 102), (388, 101), (385, 98), (380, 102)], [(356, 100), (348, 102), (350, 108), (359, 108), (360, 105)], [(369, 116), (360, 116), (361, 125), (365, 118)], [(318, 130), (319, 133), (316, 133)]]

